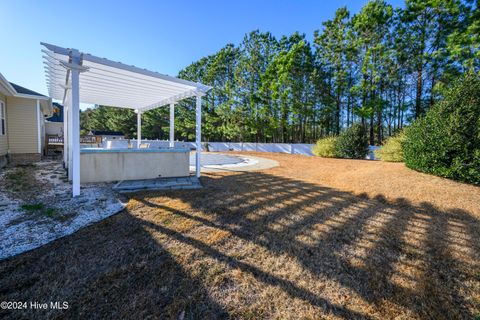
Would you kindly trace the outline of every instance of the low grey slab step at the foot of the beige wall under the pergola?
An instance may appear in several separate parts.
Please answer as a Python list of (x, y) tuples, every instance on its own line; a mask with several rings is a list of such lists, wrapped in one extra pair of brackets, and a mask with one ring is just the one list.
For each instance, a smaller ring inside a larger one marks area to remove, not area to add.
[(118, 182), (113, 190), (118, 192), (135, 192), (142, 190), (176, 190), (198, 189), (202, 184), (197, 177), (156, 178), (143, 180), (124, 180)]

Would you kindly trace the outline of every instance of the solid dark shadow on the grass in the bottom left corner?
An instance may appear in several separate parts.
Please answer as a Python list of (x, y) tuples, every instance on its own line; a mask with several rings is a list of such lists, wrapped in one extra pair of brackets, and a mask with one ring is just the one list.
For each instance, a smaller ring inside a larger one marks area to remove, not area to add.
[[(76, 234), (0, 262), (2, 319), (220, 319), (227, 313), (144, 224), (122, 212)], [(35, 310), (30, 301), (67, 301)], [(201, 303), (199, 303), (201, 301)]]

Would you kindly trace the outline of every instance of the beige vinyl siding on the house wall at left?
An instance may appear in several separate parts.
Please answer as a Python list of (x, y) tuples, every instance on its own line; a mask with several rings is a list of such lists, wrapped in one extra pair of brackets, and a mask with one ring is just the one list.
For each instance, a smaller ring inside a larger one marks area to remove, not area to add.
[(7, 131), (11, 153), (38, 153), (36, 100), (7, 97)]

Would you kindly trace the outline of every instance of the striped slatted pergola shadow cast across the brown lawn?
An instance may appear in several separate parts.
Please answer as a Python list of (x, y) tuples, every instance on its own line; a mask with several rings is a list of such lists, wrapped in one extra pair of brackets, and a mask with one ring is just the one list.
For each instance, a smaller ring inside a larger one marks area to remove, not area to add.
[[(480, 226), (467, 212), (442, 211), (428, 203), (415, 206), (405, 199), (368, 199), (258, 172), (212, 174), (202, 181), (204, 190), (168, 194), (188, 203), (190, 210), (156, 203), (155, 194), (137, 194), (134, 199), (202, 227), (227, 231), (231, 236), (225, 242), (244, 241), (273, 256), (292, 257), (309, 274), (334, 281), (374, 306), (378, 315), (388, 314), (393, 304), (420, 318), (473, 317), (475, 306), (465, 297), (464, 281), (476, 277)], [(221, 246), (145, 223), (326, 313), (369, 317), (246, 264)]]

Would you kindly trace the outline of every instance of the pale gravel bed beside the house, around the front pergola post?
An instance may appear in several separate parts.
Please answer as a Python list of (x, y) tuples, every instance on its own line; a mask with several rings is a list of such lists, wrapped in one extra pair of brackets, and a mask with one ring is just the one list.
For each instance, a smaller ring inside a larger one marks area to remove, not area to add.
[[(1, 172), (0, 180), (15, 170)], [(125, 204), (111, 184), (82, 185), (82, 194), (71, 197), (71, 186), (59, 162), (35, 164), (36, 190), (30, 199), (15, 199), (4, 186), (0, 189), (0, 260), (38, 248), (53, 240), (121, 211)], [(41, 209), (26, 209), (37, 205)]]

